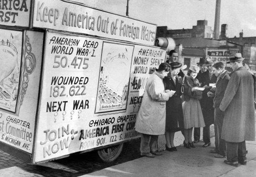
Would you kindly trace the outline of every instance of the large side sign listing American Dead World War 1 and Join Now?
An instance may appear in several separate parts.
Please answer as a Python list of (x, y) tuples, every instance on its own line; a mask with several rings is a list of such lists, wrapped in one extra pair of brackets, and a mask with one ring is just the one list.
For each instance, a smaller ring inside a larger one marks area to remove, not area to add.
[(149, 74), (166, 50), (47, 33), (35, 162), (140, 136)]

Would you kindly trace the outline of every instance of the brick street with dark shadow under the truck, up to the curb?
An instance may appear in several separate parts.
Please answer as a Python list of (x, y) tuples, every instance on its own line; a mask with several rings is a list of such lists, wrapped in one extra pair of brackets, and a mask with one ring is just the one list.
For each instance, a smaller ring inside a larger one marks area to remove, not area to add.
[(0, 150), (1, 177), (78, 177), (97, 170), (140, 158), (140, 139), (124, 144), (119, 158), (113, 163), (103, 163), (95, 158), (96, 151), (77, 154), (38, 165), (31, 165)]

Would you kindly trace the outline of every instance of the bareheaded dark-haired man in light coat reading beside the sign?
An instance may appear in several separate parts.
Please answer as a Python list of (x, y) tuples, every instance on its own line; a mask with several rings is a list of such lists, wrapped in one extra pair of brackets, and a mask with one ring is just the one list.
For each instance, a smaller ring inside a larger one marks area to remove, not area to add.
[(162, 155), (156, 150), (158, 135), (165, 133), (166, 101), (173, 96), (173, 92), (165, 92), (163, 83), (170, 70), (168, 63), (161, 63), (147, 81), (135, 123), (135, 130), (141, 133), (140, 154), (145, 157)]

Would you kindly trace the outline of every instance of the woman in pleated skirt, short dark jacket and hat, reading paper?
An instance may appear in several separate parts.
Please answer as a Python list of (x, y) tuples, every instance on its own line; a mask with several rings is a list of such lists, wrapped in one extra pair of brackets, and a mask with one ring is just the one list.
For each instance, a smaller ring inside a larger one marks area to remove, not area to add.
[(184, 79), (184, 99), (182, 104), (184, 116), (184, 147), (195, 147), (192, 142), (192, 129), (193, 127), (204, 127), (204, 117), (199, 103), (202, 98), (202, 91), (197, 90), (199, 82), (196, 79), (197, 73), (200, 68), (191, 65), (187, 76)]

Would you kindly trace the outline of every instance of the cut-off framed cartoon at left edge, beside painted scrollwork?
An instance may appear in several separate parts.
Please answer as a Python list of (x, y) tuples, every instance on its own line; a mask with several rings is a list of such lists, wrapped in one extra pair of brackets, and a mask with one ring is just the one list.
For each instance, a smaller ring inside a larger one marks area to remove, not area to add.
[[(6, 36), (9, 38), (5, 39)], [(22, 32), (3, 30), (0, 41), (0, 109), (15, 112), (19, 90)]]

